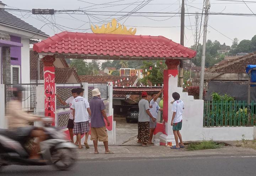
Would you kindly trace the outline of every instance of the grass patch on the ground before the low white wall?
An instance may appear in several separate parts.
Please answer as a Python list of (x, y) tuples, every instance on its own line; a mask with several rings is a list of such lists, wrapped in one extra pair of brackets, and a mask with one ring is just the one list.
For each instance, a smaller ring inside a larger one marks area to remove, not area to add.
[(205, 150), (205, 149), (217, 149), (221, 148), (223, 144), (218, 144), (213, 141), (203, 141), (201, 143), (192, 143), (188, 145), (188, 150)]

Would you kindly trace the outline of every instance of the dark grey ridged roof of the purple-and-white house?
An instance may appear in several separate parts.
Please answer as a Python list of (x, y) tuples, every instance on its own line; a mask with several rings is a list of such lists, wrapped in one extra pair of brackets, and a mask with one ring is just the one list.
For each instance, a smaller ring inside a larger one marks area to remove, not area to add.
[(43, 31), (33, 27), (32, 25), (26, 23), (25, 21), (21, 20), (20, 18), (12, 15), (11, 13), (3, 9), (0, 9), (0, 25), (49, 37), (49, 35), (47, 35)]

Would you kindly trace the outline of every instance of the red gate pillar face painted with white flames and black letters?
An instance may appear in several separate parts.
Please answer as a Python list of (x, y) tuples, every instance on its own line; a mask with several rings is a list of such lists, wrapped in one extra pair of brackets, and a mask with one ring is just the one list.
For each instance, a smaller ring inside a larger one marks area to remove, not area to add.
[(53, 118), (55, 125), (55, 68), (44, 67), (44, 115)]

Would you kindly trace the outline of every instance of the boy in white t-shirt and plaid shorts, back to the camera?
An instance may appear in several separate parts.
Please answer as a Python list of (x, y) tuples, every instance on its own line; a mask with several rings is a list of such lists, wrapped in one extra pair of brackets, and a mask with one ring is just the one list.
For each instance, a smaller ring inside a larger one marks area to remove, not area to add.
[(75, 123), (73, 133), (76, 134), (78, 148), (81, 149), (83, 148), (81, 145), (81, 134), (85, 133), (85, 136), (88, 136), (90, 131), (89, 115), (91, 115), (91, 110), (88, 100), (82, 97), (84, 95), (84, 89), (77, 88), (76, 92), (78, 94), (78, 97), (73, 100), (71, 105), (71, 108), (73, 109), (73, 117)]

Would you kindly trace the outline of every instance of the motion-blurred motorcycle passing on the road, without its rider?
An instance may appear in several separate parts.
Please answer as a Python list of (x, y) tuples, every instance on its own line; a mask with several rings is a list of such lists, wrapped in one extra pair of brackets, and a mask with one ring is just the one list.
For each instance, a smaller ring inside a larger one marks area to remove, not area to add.
[[(41, 142), (40, 155), (42, 160), (29, 159), (29, 150), (25, 147), (27, 128), (20, 128), (19, 134), (10, 130), (0, 130), (0, 168), (6, 165), (53, 165), (59, 170), (68, 170), (76, 161), (76, 146), (65, 140), (65, 135), (50, 127), (50, 119), (44, 118), (41, 127), (47, 138)], [(32, 128), (30, 128), (32, 129)], [(23, 135), (22, 135), (23, 134)], [(27, 141), (28, 142), (28, 141)]]

